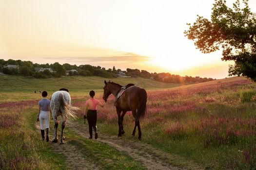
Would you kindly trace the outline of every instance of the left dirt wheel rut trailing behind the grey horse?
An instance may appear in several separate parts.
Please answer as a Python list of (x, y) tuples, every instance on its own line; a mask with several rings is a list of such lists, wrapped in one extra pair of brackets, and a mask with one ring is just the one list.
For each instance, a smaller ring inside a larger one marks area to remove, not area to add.
[[(35, 124), (37, 129), (40, 129), (39, 122)], [(53, 136), (49, 134), (49, 144), (52, 146), (56, 153), (60, 153), (66, 156), (66, 166), (69, 170), (98, 170), (97, 166), (92, 164), (90, 161), (86, 160), (84, 156), (79, 153), (75, 146), (68, 144), (64, 145), (58, 143), (53, 143), (51, 139)]]

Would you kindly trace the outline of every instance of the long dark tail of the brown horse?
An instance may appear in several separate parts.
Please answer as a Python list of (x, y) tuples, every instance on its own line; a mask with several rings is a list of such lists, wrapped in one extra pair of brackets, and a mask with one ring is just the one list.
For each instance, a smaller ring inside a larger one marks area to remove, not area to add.
[(139, 89), (139, 104), (136, 119), (143, 118), (146, 113), (147, 92), (144, 88)]

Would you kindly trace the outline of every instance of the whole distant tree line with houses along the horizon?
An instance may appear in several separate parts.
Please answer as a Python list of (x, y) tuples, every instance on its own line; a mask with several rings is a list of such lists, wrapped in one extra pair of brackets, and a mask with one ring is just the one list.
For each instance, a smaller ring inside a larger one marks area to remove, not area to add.
[[(7, 68), (6, 65), (16, 65), (17, 68)], [(43, 71), (36, 71), (35, 68), (51, 68), (44, 69)], [(51, 77), (61, 77), (61, 76), (100, 76), (104, 78), (115, 78), (118, 77), (120, 72), (124, 73), (126, 76), (131, 77), (142, 77), (153, 79), (165, 83), (177, 83), (177, 84), (192, 84), (192, 83), (201, 83), (212, 81), (212, 78), (200, 78), (200, 77), (191, 77), (185, 76), (181, 77), (180, 75), (174, 75), (170, 73), (150, 73), (146, 70), (131, 69), (127, 68), (126, 71), (121, 69), (116, 69), (115, 66), (111, 68), (101, 68), (100, 66), (91, 66), (91, 65), (70, 65), (65, 63), (63, 65), (58, 62), (54, 64), (33, 64), (31, 61), (21, 61), (9, 59), (7, 61), (0, 59), (0, 72), (9, 75), (21, 75), (21, 76), (33, 76), (35, 78), (51, 78)]]

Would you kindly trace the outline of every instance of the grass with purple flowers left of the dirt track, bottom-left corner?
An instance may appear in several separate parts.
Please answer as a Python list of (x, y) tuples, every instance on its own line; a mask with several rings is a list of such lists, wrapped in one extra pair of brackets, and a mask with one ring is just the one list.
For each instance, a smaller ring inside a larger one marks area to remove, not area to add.
[[(35, 107), (31, 109), (28, 106), (19, 110), (13, 106), (7, 111), (10, 117), (3, 117), (7, 112), (1, 109), (3, 121), (0, 123), (0, 169), (66, 169), (65, 157), (55, 153), (46, 142), (42, 142), (36, 132)], [(8, 121), (11, 125), (4, 127)]]

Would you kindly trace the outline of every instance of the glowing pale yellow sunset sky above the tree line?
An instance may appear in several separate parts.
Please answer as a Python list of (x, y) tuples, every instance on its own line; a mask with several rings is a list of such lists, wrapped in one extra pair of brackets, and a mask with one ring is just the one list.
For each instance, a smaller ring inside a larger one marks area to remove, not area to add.
[[(227, 0), (229, 5), (235, 0)], [(0, 0), (0, 59), (225, 78), (183, 32), (214, 0)], [(256, 0), (249, 0), (256, 12)]]

